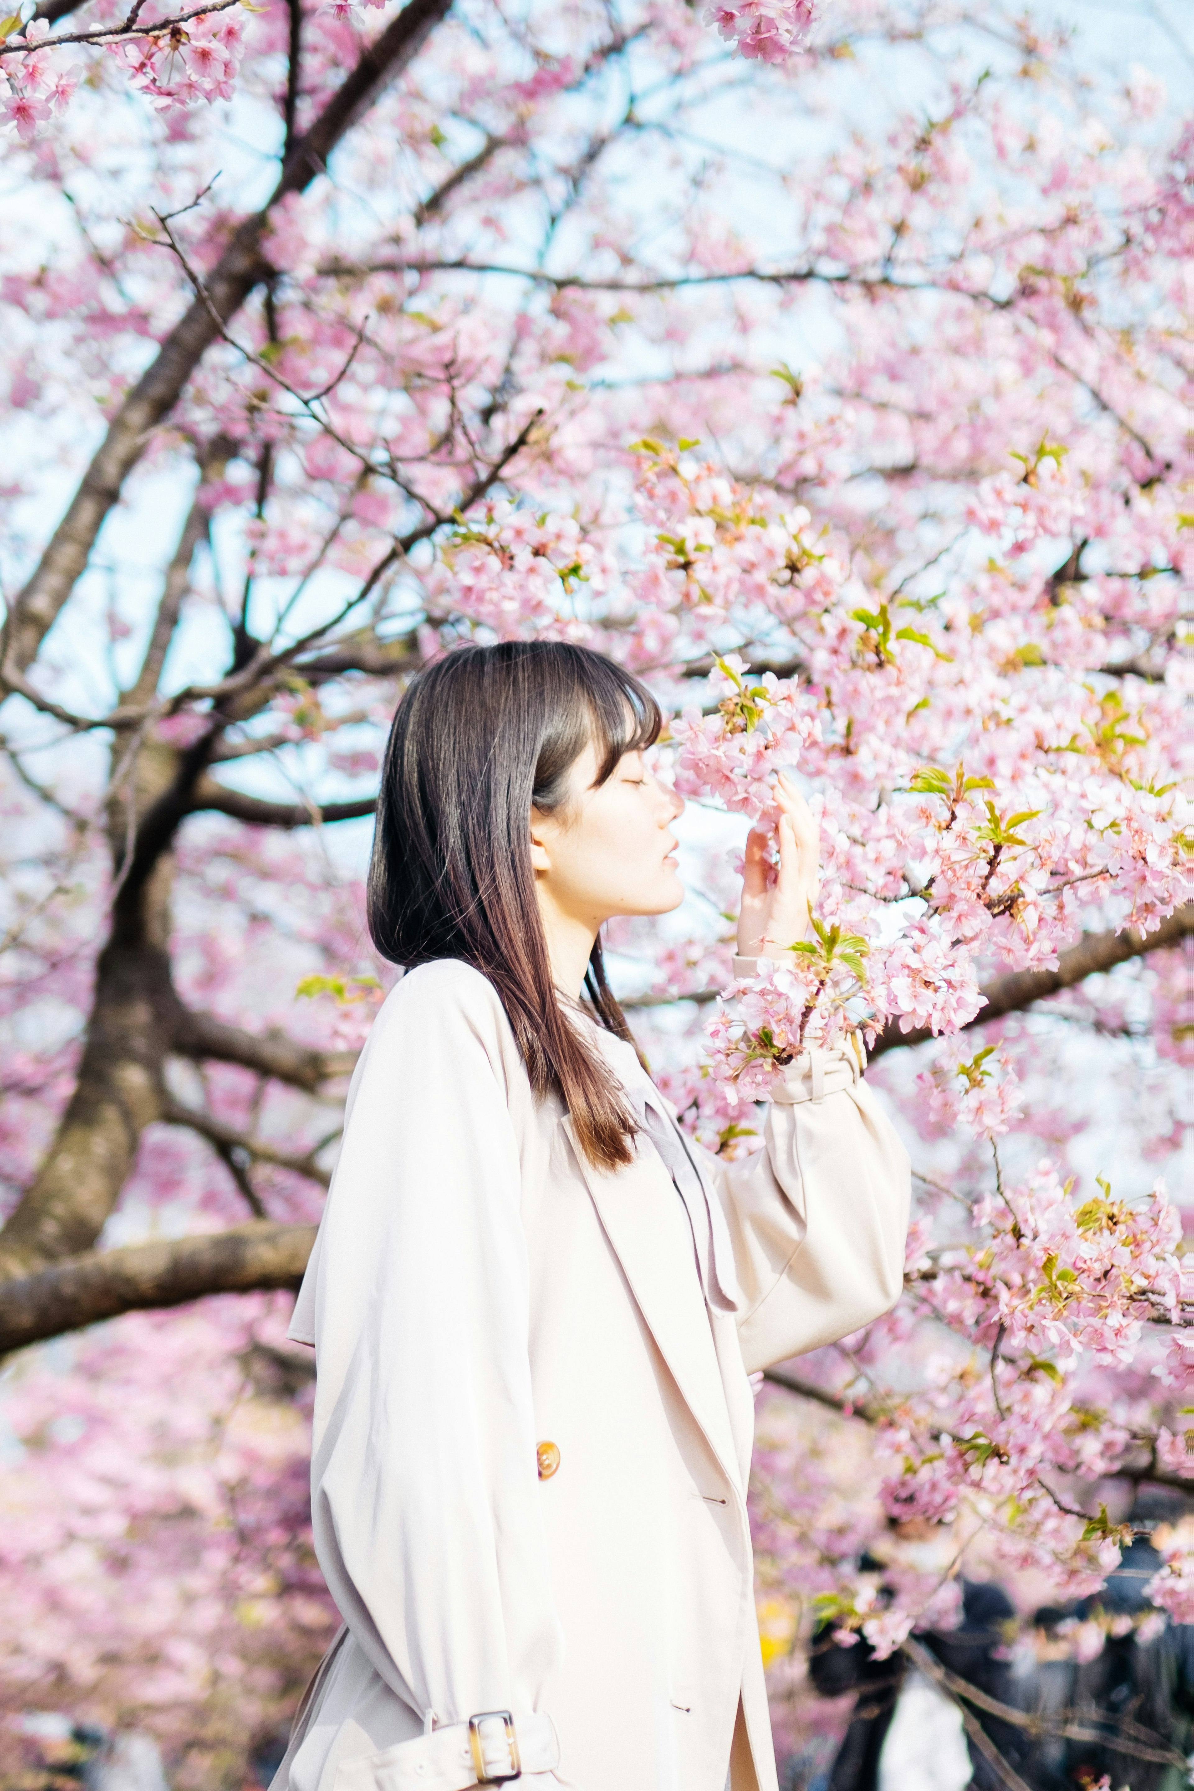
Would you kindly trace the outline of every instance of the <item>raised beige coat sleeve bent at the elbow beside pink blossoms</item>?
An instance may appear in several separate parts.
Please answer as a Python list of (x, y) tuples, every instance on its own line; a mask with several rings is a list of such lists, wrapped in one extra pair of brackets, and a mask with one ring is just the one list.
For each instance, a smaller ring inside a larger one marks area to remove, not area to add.
[(850, 1050), (809, 1051), (777, 1075), (764, 1143), (738, 1162), (714, 1159), (748, 1370), (895, 1306), (911, 1195), (908, 1152)]

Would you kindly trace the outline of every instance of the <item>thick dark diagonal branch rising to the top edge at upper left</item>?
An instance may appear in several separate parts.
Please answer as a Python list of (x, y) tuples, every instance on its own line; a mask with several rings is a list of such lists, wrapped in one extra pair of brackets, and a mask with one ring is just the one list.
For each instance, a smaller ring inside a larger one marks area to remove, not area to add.
[[(363, 52), (311, 129), (286, 156), (272, 197), (261, 211), (243, 219), (206, 276), (206, 297), (218, 317), (227, 321), (238, 312), (252, 288), (272, 272), (261, 253), (261, 240), (274, 206), (288, 193), (303, 192), (324, 170), (337, 143), (410, 63), (449, 7), (451, 0), (408, 0)], [(209, 304), (195, 297), (120, 405), (38, 570), (11, 607), (4, 625), (0, 682), (7, 684), (11, 675), (21, 675), (32, 664), (82, 573), (125, 478), (217, 335)]]

